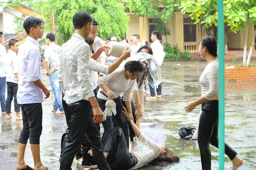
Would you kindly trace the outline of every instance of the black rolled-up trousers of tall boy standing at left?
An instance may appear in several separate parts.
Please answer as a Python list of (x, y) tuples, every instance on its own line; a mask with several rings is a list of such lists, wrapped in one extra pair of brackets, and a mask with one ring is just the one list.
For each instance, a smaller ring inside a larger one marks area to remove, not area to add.
[(40, 144), (43, 110), (41, 103), (21, 104), (23, 128), (19, 143)]

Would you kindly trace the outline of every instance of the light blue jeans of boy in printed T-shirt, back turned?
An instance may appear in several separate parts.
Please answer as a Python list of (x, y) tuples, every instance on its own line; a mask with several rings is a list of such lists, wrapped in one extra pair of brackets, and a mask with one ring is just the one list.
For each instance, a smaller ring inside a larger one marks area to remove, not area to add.
[(53, 109), (57, 111), (63, 111), (62, 99), (61, 99), (61, 87), (59, 85), (59, 71), (54, 71), (50, 75), (50, 82), (52, 85), (52, 91), (54, 92), (54, 106)]

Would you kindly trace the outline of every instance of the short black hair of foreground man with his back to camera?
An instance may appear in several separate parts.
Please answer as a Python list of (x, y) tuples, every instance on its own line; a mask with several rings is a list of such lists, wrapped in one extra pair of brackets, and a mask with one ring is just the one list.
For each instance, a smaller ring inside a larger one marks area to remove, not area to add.
[(73, 16), (74, 29), (81, 29), (88, 22), (92, 23), (92, 17), (88, 12), (85, 12), (85, 11), (77, 12)]

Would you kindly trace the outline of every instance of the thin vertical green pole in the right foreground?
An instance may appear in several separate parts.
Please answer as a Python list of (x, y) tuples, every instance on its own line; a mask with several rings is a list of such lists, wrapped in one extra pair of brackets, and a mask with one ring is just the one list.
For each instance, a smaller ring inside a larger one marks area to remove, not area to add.
[(225, 136), (225, 82), (224, 82), (224, 15), (223, 0), (218, 0), (218, 51), (219, 51), (219, 170), (224, 170)]

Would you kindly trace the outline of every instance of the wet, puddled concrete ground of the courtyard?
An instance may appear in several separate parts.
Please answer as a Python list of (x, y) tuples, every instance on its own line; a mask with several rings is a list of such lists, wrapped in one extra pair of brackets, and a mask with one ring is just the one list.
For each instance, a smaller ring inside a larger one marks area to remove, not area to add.
[[(197, 140), (180, 139), (181, 126), (197, 125), (200, 107), (186, 113), (187, 102), (200, 97), (199, 76), (206, 62), (169, 61), (162, 65), (163, 99), (145, 100), (144, 117), (141, 130), (159, 144), (172, 148), (181, 158), (179, 163), (168, 167), (145, 166), (142, 170), (200, 170), (201, 161)], [(43, 71), (44, 72), (44, 71)], [(46, 76), (43, 82), (51, 89)], [(225, 85), (225, 141), (234, 148), (239, 157), (246, 160), (246, 165), (239, 170), (256, 170), (256, 84), (226, 83)], [(43, 132), (40, 141), (41, 160), (53, 170), (59, 169), (61, 136), (67, 125), (64, 114), (51, 112), (54, 95), (43, 102)], [(17, 163), (17, 142), (22, 128), (22, 121), (16, 121), (15, 115), (7, 120), (2, 115), (0, 122), (0, 169), (14, 170)], [(211, 146), (212, 170), (218, 170), (218, 150)], [(33, 167), (33, 158), (29, 145), (25, 161)], [(125, 160), (124, 160), (125, 161)], [(225, 156), (225, 168), (232, 166)], [(73, 162), (73, 170), (82, 170)]]

